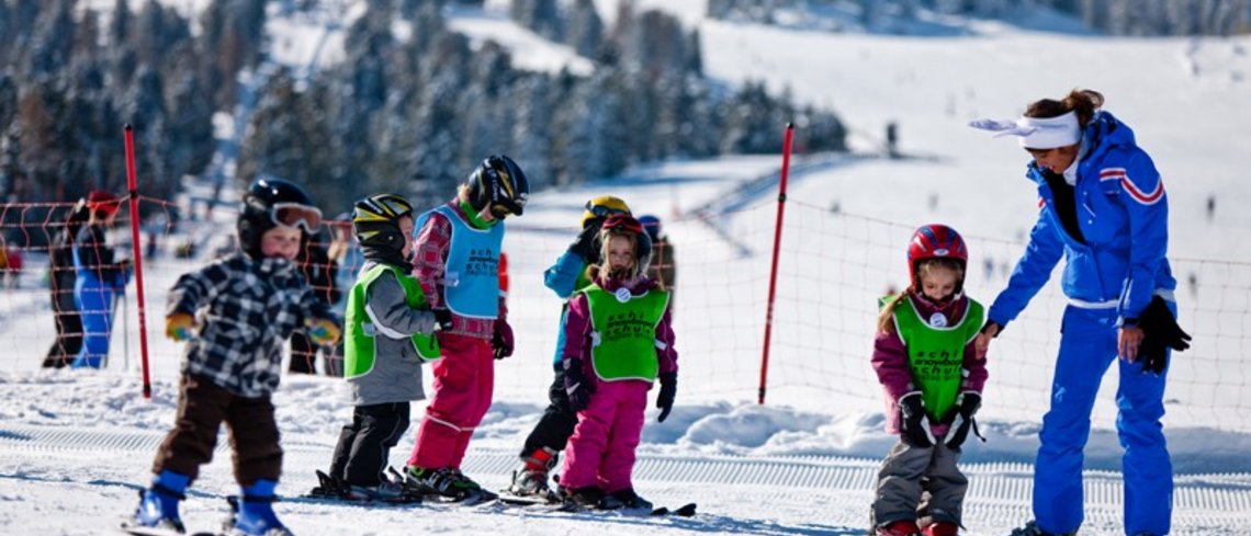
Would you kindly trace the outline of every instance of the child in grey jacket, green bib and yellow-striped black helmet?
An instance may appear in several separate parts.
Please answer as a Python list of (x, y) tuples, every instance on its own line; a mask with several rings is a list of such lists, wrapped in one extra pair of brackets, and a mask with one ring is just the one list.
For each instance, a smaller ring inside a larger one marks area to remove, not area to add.
[(439, 357), (437, 322), (410, 275), (413, 205), (394, 194), (372, 195), (357, 201), (352, 225), (365, 257), (344, 317), (343, 376), (355, 410), (314, 495), (404, 501), (383, 470), (408, 430), (409, 401), (425, 399), (422, 362)]

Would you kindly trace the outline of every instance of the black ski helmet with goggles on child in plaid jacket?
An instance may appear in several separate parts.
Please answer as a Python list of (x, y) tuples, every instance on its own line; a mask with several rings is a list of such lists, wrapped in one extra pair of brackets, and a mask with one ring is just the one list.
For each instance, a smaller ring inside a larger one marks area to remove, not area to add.
[(260, 177), (248, 186), (235, 229), (239, 247), (260, 259), (260, 237), (279, 225), (301, 227), (308, 237), (322, 226), (322, 211), (303, 187), (281, 179)]

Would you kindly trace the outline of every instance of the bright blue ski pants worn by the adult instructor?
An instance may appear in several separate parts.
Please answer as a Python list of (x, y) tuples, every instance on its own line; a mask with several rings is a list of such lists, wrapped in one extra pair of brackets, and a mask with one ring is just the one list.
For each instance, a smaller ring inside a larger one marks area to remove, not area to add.
[[(1176, 305), (1170, 307), (1176, 314)], [(1033, 474), (1033, 515), (1047, 532), (1070, 534), (1082, 524), (1082, 449), (1090, 439), (1095, 396), (1113, 361), (1121, 380), (1116, 429), (1125, 450), (1125, 532), (1166, 535), (1170, 530), (1172, 462), (1160, 424), (1168, 371), (1157, 376), (1143, 372), (1141, 360), (1118, 360), (1116, 320), (1113, 309), (1065, 310), (1051, 409), (1042, 417)]]

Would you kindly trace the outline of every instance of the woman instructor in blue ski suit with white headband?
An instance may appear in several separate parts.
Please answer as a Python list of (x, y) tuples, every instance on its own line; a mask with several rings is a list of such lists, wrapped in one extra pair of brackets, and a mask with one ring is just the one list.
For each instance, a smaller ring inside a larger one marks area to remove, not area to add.
[(1172, 464), (1160, 419), (1168, 349), (1183, 350), (1190, 337), (1177, 327), (1177, 282), (1165, 257), (1168, 202), (1133, 131), (1102, 104), (1097, 91), (1073, 90), (1035, 101), (1016, 121), (971, 124), (1020, 139), (1033, 157), (1026, 176), (1041, 197), (1030, 244), (975, 341), (980, 356), (1066, 259), (1068, 306), (1038, 434), (1035, 521), (1012, 532), (1020, 536), (1072, 535), (1081, 526), (1082, 449), (1100, 381), (1117, 357), (1125, 531), (1163, 536), (1172, 517)]

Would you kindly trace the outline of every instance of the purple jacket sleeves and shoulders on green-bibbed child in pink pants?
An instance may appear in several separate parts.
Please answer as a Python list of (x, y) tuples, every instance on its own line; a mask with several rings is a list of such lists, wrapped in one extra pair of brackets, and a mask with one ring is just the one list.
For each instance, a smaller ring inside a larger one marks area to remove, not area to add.
[[(629, 289), (631, 295), (634, 296), (657, 286), (656, 281), (647, 277), (639, 277), (632, 285), (626, 285), (626, 281), (598, 276), (595, 277), (595, 284), (609, 292), (615, 292), (617, 289), (626, 286)], [(656, 339), (664, 344), (664, 349), (656, 349), (656, 359), (661, 365), (659, 374), (678, 371), (678, 351), (673, 349), (673, 326), (669, 312), (669, 309), (666, 307), (664, 315), (661, 316), (661, 324), (656, 325)], [(564, 352), (560, 359), (564, 361), (574, 357), (580, 359), (583, 376), (595, 379), (595, 370), (590, 365), (590, 305), (587, 301), (585, 294), (575, 294), (569, 300), (569, 314), (564, 324)], [(594, 381), (599, 382), (598, 379)]]

